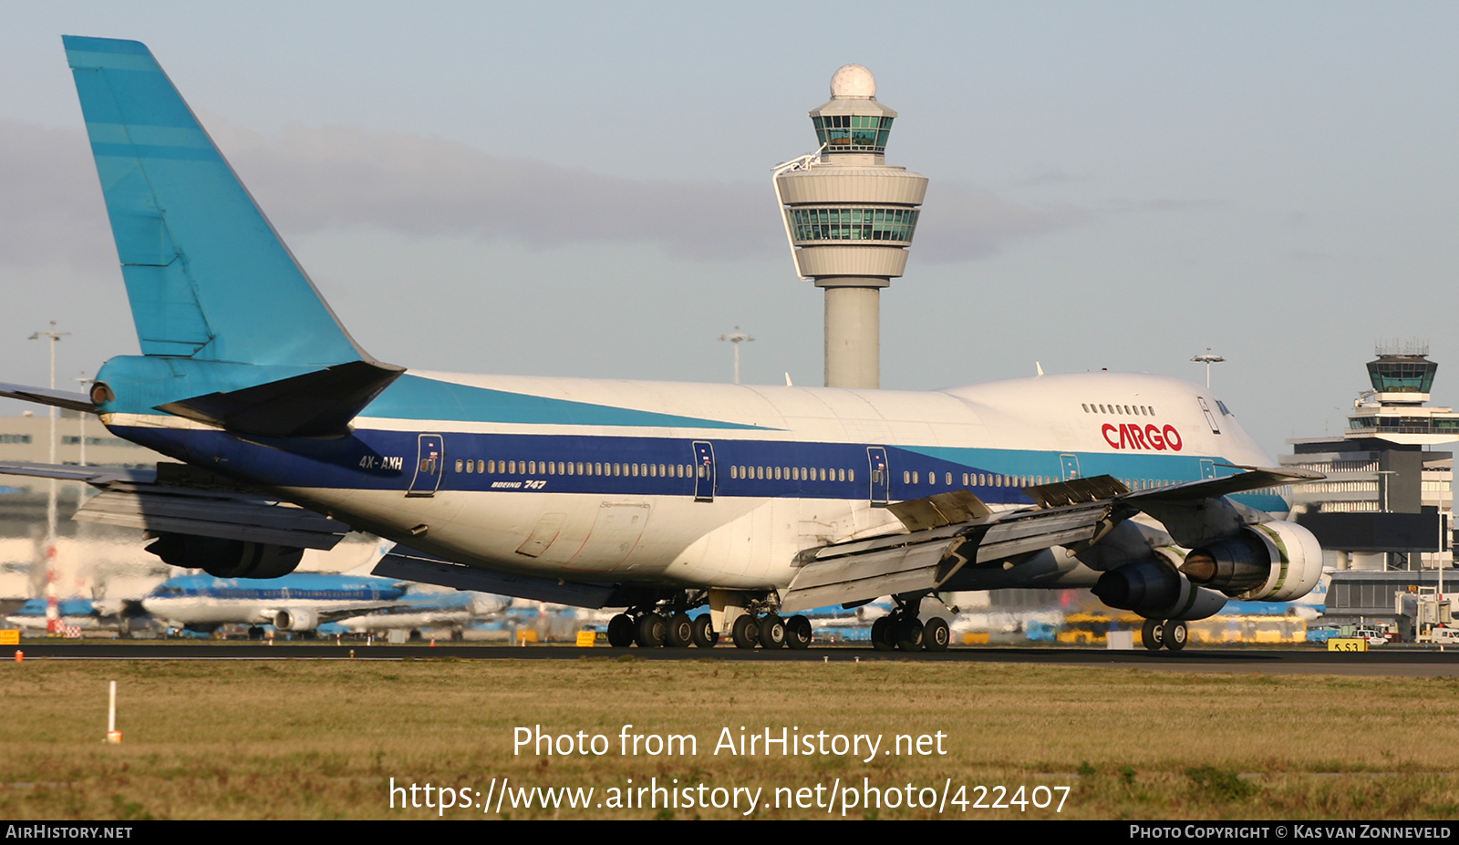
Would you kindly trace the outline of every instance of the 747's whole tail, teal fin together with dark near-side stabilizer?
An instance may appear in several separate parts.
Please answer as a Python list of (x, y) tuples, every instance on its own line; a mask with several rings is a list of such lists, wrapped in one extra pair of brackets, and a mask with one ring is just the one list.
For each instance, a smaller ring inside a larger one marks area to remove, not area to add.
[(344, 432), (403, 369), (355, 343), (143, 44), (63, 41), (143, 352), (102, 368), (96, 410)]

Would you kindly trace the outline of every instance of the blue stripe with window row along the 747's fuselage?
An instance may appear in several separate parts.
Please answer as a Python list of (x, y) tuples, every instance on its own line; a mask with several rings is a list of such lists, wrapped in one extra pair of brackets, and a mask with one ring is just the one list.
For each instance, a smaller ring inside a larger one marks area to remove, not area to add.
[[(881, 444), (430, 432), (442, 447), (427, 447), (427, 451), (439, 448), (444, 455), (436, 455), (436, 463), (420, 476), (422, 460), (430, 455), (422, 454), (422, 435), (416, 432), (357, 429), (346, 438), (271, 441), (197, 429), (115, 426), (112, 431), (159, 452), (207, 461), (245, 480), (280, 487), (694, 496), (696, 479), (690, 467), (696, 466), (693, 444), (699, 441), (713, 445), (715, 496), (883, 498), (872, 495), (867, 452), (868, 447)], [(1110, 474), (1154, 486), (1201, 479), (1202, 458), (1224, 463), (1205, 455), (883, 448), (891, 501), (967, 487), (989, 503), (1029, 503), (1018, 486), (1039, 483), (1040, 477), (1043, 482), (1061, 480), (1064, 455), (1069, 454), (1078, 457), (1081, 476)], [(214, 461), (214, 457), (222, 460)], [(463, 463), (461, 471), (457, 461)], [(495, 471), (467, 473), (465, 461), (495, 464)], [(570, 471), (563, 467), (568, 463)], [(578, 464), (587, 471), (579, 473)], [(678, 468), (684, 471), (680, 474)], [(776, 470), (781, 477), (775, 477)], [(814, 476), (807, 470), (816, 470)], [(826, 470), (826, 480), (821, 480), (821, 470)], [(1226, 467), (1218, 471), (1233, 474)], [(970, 476), (967, 483), (964, 473)], [(916, 482), (910, 480), (913, 477)], [(1010, 485), (1008, 477), (1018, 480)], [(1285, 502), (1269, 493), (1246, 493), (1242, 501), (1262, 509), (1285, 509)]]

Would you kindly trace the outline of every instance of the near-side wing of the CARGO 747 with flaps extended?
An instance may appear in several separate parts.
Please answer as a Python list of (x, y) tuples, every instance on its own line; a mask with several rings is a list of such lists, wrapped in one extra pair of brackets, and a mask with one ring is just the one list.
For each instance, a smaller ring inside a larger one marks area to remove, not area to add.
[(1087, 549), (1139, 511), (1164, 521), (1172, 511), (1228, 493), (1322, 477), (1296, 468), (1237, 468), (1243, 471), (1153, 490), (1131, 492), (1109, 476), (1024, 487), (1034, 506), (1018, 511), (994, 512), (970, 490), (899, 502), (889, 509), (906, 533), (802, 553), (781, 609), (937, 590), (963, 566), (999, 563), (1050, 546)]

